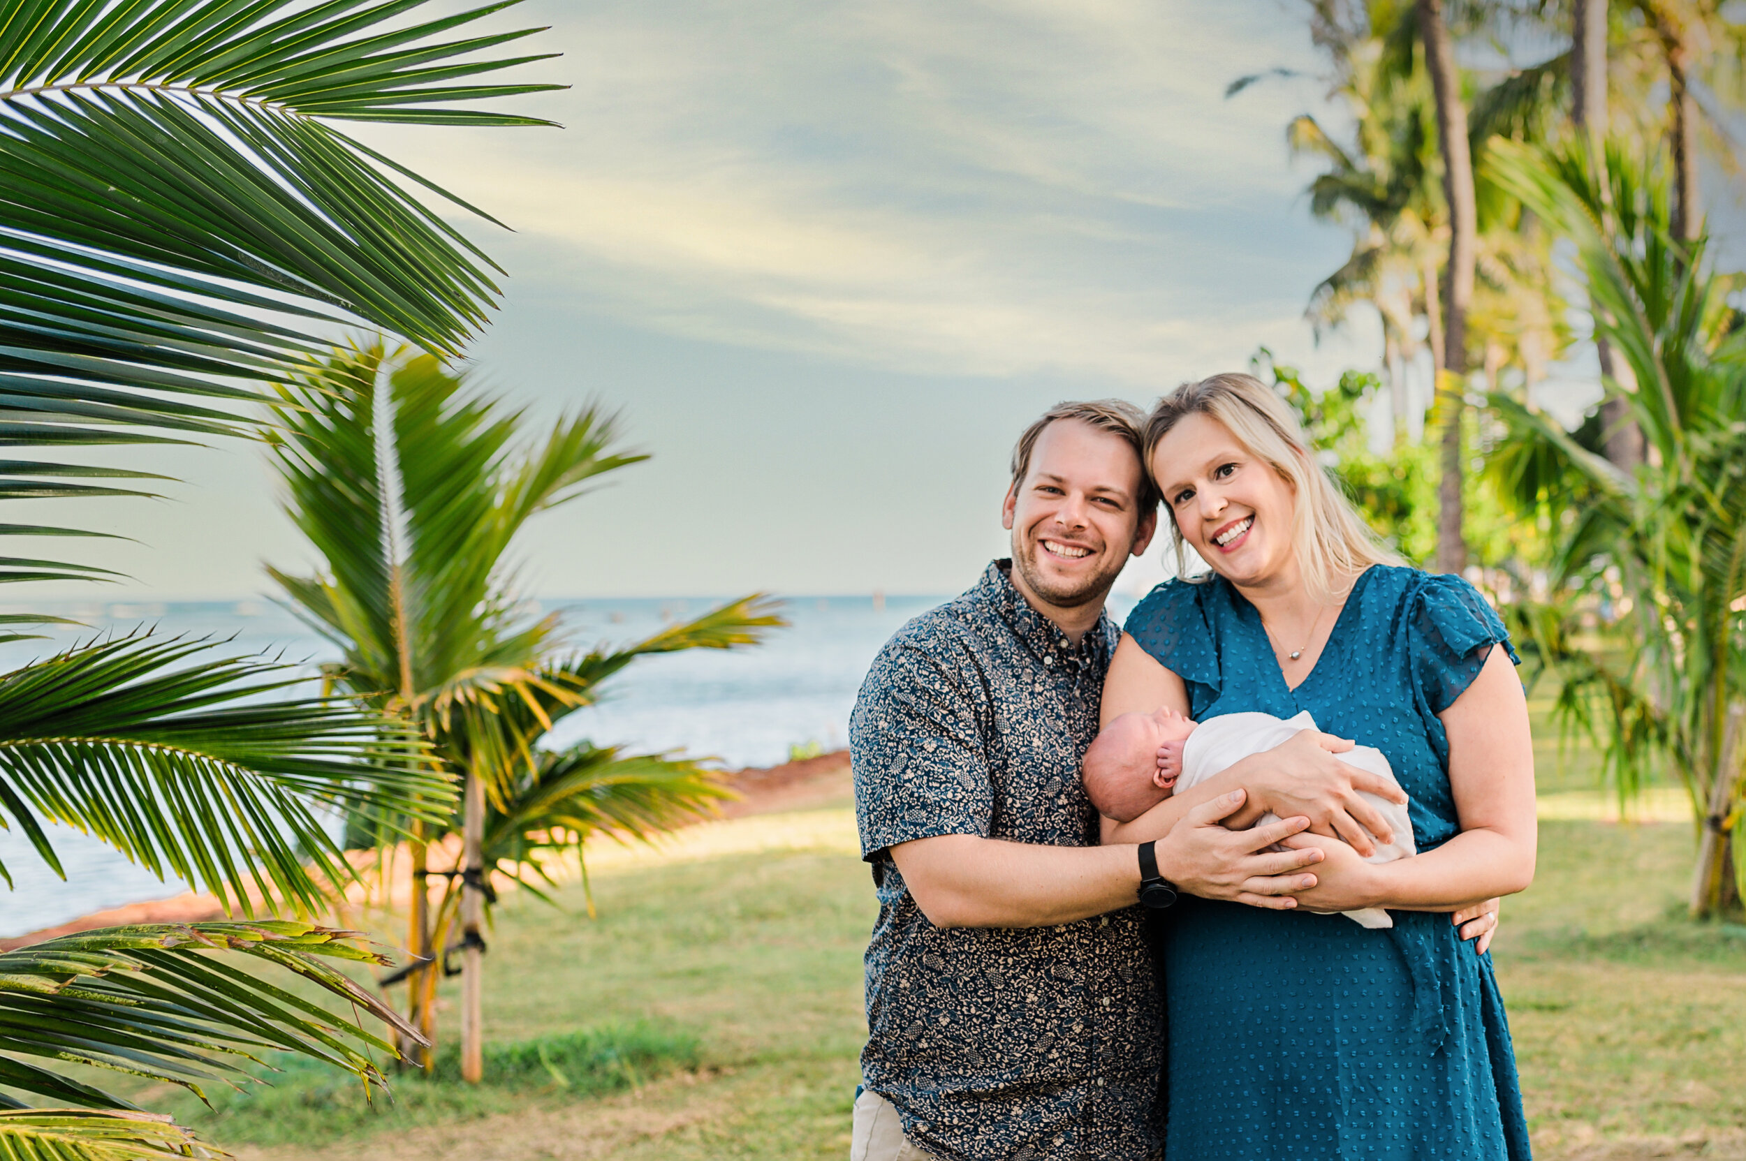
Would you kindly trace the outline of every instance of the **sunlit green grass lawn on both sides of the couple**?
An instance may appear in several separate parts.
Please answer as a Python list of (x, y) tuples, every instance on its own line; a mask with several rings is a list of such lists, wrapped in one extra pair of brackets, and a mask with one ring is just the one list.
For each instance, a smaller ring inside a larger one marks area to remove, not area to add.
[[(1680, 824), (1542, 828), (1538, 878), (1507, 904), (1496, 945), (1542, 1158), (1746, 1158), (1746, 929), (1680, 917), (1688, 857)], [(176, 1110), (279, 1161), (847, 1156), (873, 918), (854, 854), (622, 868), (594, 887), (595, 920), (580, 889), (562, 911), (501, 908), (487, 1028), (505, 1051), (594, 1030), (595, 1048), (643, 1053), (629, 1075), (564, 1086), (529, 1065), (482, 1091), (403, 1081), (398, 1107), (368, 1112), (353, 1089), (293, 1072), (271, 1100)], [(445, 1018), (452, 1037), (452, 1007)]]

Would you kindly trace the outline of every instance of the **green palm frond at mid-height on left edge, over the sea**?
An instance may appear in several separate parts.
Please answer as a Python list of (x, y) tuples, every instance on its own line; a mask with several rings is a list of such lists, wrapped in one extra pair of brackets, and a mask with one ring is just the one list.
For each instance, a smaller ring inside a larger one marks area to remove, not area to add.
[(323, 889), (313, 871), (328, 883), (351, 875), (314, 805), (443, 817), (452, 791), (409, 761), (421, 742), (396, 719), (344, 700), (262, 700), (302, 681), (297, 665), (152, 635), (3, 674), (0, 819), (58, 873), (44, 821), (96, 835), (244, 913), (251, 892), (314, 908)]

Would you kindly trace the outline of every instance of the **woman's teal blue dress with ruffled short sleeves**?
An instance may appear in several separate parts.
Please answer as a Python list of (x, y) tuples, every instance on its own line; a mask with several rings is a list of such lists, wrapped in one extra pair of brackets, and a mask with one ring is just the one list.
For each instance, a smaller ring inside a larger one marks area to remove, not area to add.
[[(1310, 711), (1388, 756), (1419, 850), (1460, 831), (1437, 714), (1510, 649), (1458, 576), (1371, 567), (1308, 679), (1287, 688), (1227, 581), (1166, 581), (1126, 630), (1187, 683), (1193, 718)], [(1510, 660), (1516, 660), (1510, 649)], [(1166, 1161), (1510, 1161), (1529, 1156), (1491, 955), (1447, 915), (1341, 915), (1184, 899), (1159, 939), (1168, 1011)]]

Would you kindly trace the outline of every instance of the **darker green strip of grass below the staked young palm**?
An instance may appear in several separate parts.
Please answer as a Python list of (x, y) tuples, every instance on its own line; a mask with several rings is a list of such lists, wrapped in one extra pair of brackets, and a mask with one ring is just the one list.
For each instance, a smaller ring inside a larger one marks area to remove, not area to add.
[(461, 1081), (459, 1055), (445, 1048), (436, 1075), (405, 1072), (393, 1089), (365, 1093), (351, 1074), (304, 1056), (272, 1055), (258, 1084), (208, 1091), (166, 1112), (223, 1145), (325, 1145), (342, 1138), (421, 1124), (489, 1117), (529, 1100), (562, 1102), (637, 1088), (698, 1060), (697, 1037), (655, 1025), (609, 1025), (587, 1032), (485, 1046), (485, 1081)]

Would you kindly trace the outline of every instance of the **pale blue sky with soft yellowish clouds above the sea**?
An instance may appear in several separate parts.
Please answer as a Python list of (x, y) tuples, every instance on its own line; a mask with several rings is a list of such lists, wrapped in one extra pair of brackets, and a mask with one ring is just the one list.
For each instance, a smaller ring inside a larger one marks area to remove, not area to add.
[[(1283, 127), (1325, 113), (1282, 0), (529, 0), (498, 106), (562, 129), (365, 126), (489, 210), (508, 271), (468, 354), (536, 417), (615, 409), (648, 463), (541, 517), (536, 595), (948, 594), (1004, 550), (1018, 431), (1062, 398), (1151, 403), (1259, 346), (1315, 342), (1350, 248)], [(129, 452), (164, 499), (52, 510), (134, 538), (129, 580), (44, 597), (244, 599), (307, 567), (258, 450)], [(14, 519), (26, 517), (17, 508)], [(1152, 560), (1124, 585), (1161, 574)], [(19, 590), (14, 595), (23, 597)]]

